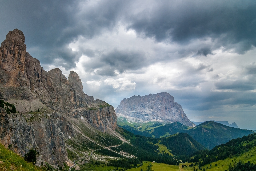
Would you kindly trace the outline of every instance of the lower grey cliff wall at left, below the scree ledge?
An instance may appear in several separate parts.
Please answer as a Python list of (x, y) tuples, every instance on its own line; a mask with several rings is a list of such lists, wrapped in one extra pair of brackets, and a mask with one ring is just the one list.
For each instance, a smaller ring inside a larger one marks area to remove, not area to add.
[(6, 147), (12, 145), (11, 150), (22, 156), (34, 148), (39, 152), (37, 165), (42, 161), (62, 164), (67, 160), (64, 137), (73, 135), (72, 125), (59, 113), (39, 113), (7, 114), (0, 107), (0, 142)]

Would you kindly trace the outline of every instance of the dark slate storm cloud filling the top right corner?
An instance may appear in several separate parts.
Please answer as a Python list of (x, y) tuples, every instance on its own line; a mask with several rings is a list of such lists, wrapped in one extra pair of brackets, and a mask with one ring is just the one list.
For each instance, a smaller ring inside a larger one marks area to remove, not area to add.
[(216, 47), (243, 53), (256, 46), (255, 9), (255, 1), (161, 1), (131, 16), (130, 28), (158, 42), (218, 38)]

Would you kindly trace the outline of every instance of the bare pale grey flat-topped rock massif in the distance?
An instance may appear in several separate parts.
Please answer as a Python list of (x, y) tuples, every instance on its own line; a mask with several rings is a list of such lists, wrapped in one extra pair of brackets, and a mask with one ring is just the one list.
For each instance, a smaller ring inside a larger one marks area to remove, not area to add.
[(118, 117), (126, 117), (131, 122), (179, 122), (187, 126), (193, 126), (181, 105), (175, 102), (174, 97), (166, 92), (123, 99), (115, 112)]

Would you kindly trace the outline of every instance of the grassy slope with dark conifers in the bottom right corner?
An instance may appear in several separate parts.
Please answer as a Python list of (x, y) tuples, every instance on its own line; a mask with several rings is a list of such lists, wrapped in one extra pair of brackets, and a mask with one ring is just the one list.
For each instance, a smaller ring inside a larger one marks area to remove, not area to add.
[[(230, 152), (233, 152), (233, 155), (230, 156)], [(223, 153), (227, 153), (228, 156), (220, 160), (218, 156), (222, 156)], [(233, 139), (225, 144), (215, 146), (210, 151), (199, 150), (195, 153), (195, 155), (190, 156), (189, 159), (190, 160), (188, 162), (185, 162), (185, 160), (182, 161), (183, 163), (179, 164), (179, 168), (175, 168), (177, 166), (172, 165), (168, 165), (169, 168), (165, 168), (165, 164), (155, 163), (153, 164), (152, 169), (173, 171), (255, 171), (256, 167), (254, 164), (256, 163), (256, 134), (254, 133), (248, 136), (243, 136), (242, 138)], [(138, 167), (128, 171), (139, 170), (140, 168)]]

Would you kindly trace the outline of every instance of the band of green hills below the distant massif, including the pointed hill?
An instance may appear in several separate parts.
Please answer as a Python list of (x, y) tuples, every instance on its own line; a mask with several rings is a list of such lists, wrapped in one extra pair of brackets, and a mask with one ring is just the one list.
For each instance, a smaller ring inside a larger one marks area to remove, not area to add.
[[(198, 143), (202, 144), (208, 149), (212, 149), (214, 146), (226, 143), (229, 140), (254, 133), (250, 130), (233, 128), (214, 121), (206, 121), (194, 128), (188, 127), (179, 122), (166, 125), (162, 125), (162, 123), (151, 123), (151, 125), (147, 125), (147, 127), (144, 126), (144, 128), (142, 127), (143, 125), (139, 127), (136, 124), (129, 124), (130, 125), (125, 125), (125, 123), (123, 123), (122, 127), (130, 132), (133, 132), (134, 134), (148, 137), (152, 136), (159, 138), (173, 135), (178, 132), (187, 133)], [(158, 126), (153, 127), (154, 125)], [(142, 129), (139, 130), (140, 128)]]

